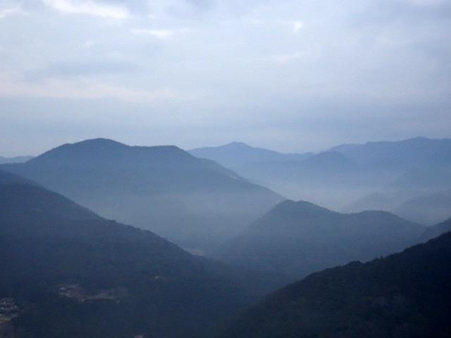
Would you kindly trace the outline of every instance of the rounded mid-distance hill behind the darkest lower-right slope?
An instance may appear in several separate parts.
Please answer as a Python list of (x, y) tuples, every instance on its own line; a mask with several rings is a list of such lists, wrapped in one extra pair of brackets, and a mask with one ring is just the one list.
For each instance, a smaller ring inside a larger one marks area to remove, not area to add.
[(346, 214), (305, 201), (284, 201), (232, 239), (223, 259), (299, 279), (399, 251), (423, 232), (421, 225), (383, 211)]

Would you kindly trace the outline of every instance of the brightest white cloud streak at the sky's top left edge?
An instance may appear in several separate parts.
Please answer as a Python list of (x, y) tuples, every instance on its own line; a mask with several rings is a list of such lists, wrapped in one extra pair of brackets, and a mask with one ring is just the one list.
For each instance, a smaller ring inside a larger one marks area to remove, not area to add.
[(97, 15), (102, 18), (130, 18), (127, 8), (117, 5), (99, 4), (90, 0), (42, 0), (45, 5), (56, 11), (70, 14)]

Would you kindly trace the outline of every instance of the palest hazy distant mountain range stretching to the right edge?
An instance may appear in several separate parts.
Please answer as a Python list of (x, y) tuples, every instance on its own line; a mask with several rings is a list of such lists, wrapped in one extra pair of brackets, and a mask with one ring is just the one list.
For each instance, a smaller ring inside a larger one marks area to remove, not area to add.
[[(374, 192), (415, 195), (451, 189), (451, 139), (416, 137), (396, 142), (343, 144), (317, 154), (280, 154), (239, 142), (194, 149), (252, 182), (289, 199), (345, 210)], [(373, 196), (374, 197), (374, 196)], [(392, 206), (393, 208), (394, 206)]]

